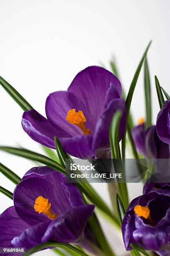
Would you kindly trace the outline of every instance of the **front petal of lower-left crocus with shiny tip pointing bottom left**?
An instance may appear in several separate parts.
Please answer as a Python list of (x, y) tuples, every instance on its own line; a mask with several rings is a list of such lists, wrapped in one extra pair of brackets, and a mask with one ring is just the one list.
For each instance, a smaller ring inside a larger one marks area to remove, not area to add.
[(27, 228), (20, 236), (13, 238), (12, 244), (15, 247), (25, 247), (28, 251), (31, 247), (41, 243), (42, 236), (50, 223), (50, 220), (40, 222), (30, 228)]

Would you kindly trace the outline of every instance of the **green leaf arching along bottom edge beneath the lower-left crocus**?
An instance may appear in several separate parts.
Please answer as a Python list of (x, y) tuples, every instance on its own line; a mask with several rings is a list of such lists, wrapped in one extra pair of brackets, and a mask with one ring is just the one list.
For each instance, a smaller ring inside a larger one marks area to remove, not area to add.
[(29, 251), (27, 251), (25, 254), (25, 256), (28, 256), (32, 253), (35, 253), (37, 251), (40, 251), (43, 248), (47, 248), (47, 247), (57, 247), (57, 248), (62, 248), (65, 251), (67, 251), (68, 253), (71, 253), (71, 255), (75, 255), (75, 256), (88, 256), (86, 253), (84, 253), (83, 251), (79, 250), (78, 248), (76, 248), (75, 246), (72, 246), (68, 243), (55, 243), (55, 242), (48, 242), (48, 243), (42, 243), (40, 245), (34, 246), (32, 247)]

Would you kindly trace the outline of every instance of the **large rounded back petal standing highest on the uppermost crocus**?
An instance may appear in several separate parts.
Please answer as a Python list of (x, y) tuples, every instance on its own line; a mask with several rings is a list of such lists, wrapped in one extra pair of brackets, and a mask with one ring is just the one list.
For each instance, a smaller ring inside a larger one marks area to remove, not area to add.
[(105, 95), (110, 88), (110, 83), (115, 85), (121, 96), (122, 87), (119, 79), (102, 67), (91, 66), (80, 71), (68, 88), (68, 92), (72, 92), (84, 102), (94, 123), (97, 122), (97, 118), (104, 108)]

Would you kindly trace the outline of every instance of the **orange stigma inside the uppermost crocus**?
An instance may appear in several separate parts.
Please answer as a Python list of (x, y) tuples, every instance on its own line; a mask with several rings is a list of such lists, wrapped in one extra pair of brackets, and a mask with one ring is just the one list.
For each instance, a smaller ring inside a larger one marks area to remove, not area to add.
[(85, 118), (85, 115), (82, 112), (82, 110), (75, 112), (75, 108), (70, 109), (67, 112), (67, 117), (65, 120), (69, 121), (69, 123), (77, 125), (82, 130), (83, 134), (91, 134), (90, 129), (87, 129), (85, 127), (85, 122), (87, 121), (87, 119)]

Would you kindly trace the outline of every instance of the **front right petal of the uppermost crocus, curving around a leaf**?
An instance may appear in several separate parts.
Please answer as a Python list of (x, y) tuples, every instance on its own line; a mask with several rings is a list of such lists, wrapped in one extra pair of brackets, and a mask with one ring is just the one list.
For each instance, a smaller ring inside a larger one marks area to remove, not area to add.
[(92, 148), (96, 152), (102, 151), (105, 148), (110, 148), (109, 143), (109, 128), (113, 115), (117, 110), (122, 111), (122, 118), (120, 120), (119, 138), (121, 140), (125, 131), (126, 123), (126, 104), (123, 99), (112, 100), (107, 108), (100, 115), (93, 136)]

